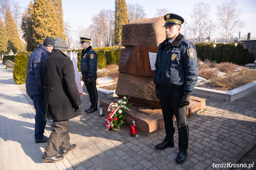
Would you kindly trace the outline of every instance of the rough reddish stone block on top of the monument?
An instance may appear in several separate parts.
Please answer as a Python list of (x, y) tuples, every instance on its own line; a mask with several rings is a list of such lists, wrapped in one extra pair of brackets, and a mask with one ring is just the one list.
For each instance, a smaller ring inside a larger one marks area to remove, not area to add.
[(122, 45), (125, 47), (141, 44), (159, 46), (165, 39), (163, 17), (136, 20), (123, 25)]

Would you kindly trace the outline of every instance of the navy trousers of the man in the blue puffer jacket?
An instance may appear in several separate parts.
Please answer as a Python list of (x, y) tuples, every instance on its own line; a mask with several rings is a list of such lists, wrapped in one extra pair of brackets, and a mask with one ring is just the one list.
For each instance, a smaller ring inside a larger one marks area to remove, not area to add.
[(44, 128), (46, 121), (45, 114), (45, 104), (44, 104), (44, 96), (42, 94), (30, 96), (33, 100), (34, 108), (36, 109), (36, 116), (35, 116), (35, 139), (41, 139), (44, 137)]

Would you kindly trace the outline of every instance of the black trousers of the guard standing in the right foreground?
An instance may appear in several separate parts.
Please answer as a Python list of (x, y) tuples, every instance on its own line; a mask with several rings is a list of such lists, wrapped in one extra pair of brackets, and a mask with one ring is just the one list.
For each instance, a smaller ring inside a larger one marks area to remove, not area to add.
[(164, 140), (173, 141), (175, 132), (175, 120), (179, 133), (179, 150), (186, 152), (189, 145), (189, 133), (187, 124), (187, 106), (182, 107), (180, 100), (183, 95), (182, 89), (166, 89), (159, 87), (159, 100), (163, 111), (166, 137)]

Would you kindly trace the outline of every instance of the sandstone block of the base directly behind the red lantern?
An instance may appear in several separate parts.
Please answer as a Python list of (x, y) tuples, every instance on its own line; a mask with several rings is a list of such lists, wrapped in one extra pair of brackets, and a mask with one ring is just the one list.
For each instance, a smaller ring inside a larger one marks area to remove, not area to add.
[(158, 130), (159, 120), (153, 116), (144, 113), (136, 114), (133, 116), (136, 127), (144, 132), (151, 133)]

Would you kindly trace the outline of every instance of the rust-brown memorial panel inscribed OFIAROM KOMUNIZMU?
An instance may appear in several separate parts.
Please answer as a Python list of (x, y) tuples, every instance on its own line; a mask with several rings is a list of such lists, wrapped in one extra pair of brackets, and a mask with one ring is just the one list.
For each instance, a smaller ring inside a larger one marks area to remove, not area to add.
[[(155, 71), (152, 70), (154, 56), (150, 53), (157, 53), (157, 46), (139, 45), (121, 49), (119, 72), (134, 75), (154, 77)], [(151, 59), (150, 59), (151, 57)], [(155, 67), (155, 63), (153, 64)]]

